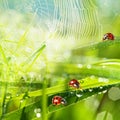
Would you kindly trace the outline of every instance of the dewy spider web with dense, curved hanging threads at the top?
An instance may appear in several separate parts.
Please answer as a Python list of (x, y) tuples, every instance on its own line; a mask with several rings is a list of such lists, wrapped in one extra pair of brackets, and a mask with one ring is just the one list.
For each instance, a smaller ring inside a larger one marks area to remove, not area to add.
[[(101, 25), (93, 1), (90, 0), (30, 0), (25, 8), (37, 13), (39, 21), (52, 38), (73, 37), (76, 42), (95, 42), (101, 37)], [(84, 39), (84, 41), (83, 41)]]

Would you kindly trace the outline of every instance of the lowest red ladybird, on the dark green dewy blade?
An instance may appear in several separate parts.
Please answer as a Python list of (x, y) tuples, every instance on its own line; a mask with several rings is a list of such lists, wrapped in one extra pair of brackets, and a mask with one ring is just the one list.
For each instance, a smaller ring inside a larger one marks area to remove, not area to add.
[(65, 105), (67, 102), (64, 98), (62, 98), (61, 96), (54, 96), (52, 98), (52, 104), (53, 105)]

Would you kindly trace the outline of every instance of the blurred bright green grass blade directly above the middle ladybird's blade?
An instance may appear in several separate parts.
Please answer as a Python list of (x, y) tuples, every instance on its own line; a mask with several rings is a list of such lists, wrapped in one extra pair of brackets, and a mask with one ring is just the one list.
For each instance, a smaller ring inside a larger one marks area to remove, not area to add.
[[(49, 69), (50, 68), (50, 69)], [(120, 60), (103, 60), (94, 64), (49, 64), (48, 71), (51, 74), (79, 74), (81, 76), (100, 76), (120, 79)]]

